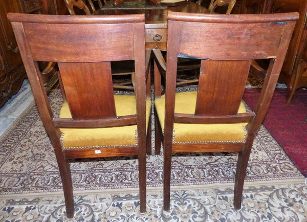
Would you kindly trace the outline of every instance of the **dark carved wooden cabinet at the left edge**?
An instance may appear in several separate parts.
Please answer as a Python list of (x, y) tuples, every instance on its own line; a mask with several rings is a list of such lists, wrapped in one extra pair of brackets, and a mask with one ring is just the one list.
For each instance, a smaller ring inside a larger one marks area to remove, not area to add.
[(26, 78), (8, 12), (24, 12), (18, 0), (0, 0), (0, 107), (16, 94)]

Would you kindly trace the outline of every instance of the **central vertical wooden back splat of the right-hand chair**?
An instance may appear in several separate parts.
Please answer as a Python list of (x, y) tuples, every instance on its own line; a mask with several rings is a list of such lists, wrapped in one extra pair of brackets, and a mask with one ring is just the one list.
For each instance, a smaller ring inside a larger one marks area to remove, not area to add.
[(249, 60), (202, 60), (195, 115), (236, 115), (250, 64)]

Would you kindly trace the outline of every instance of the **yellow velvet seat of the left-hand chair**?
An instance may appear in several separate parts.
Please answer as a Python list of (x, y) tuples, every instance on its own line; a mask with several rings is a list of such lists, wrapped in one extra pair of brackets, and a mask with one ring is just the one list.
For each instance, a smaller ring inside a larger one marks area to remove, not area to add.
[[(115, 95), (114, 99), (117, 116), (137, 113), (135, 96)], [(151, 101), (146, 100), (146, 126), (148, 126), (150, 117), (150, 107)], [(67, 102), (63, 103), (59, 117), (72, 118)], [(124, 147), (138, 144), (137, 125), (107, 128), (60, 128), (60, 130), (63, 149)]]

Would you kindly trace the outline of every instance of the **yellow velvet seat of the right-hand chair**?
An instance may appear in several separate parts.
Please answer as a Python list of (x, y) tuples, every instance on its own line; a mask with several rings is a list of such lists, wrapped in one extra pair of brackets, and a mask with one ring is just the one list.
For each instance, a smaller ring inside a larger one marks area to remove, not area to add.
[[(176, 93), (175, 113), (194, 114), (197, 92)], [(165, 97), (155, 99), (155, 107), (164, 131)], [(246, 113), (240, 103), (238, 113)], [(237, 143), (245, 142), (247, 123), (187, 124), (174, 123), (173, 144), (180, 143)]]

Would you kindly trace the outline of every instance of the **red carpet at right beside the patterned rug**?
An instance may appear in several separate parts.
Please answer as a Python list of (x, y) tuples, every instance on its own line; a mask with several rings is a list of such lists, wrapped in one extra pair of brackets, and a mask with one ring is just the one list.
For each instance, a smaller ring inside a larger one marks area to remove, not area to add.
[[(253, 109), (260, 89), (247, 89), (244, 101)], [(276, 88), (264, 125), (307, 177), (307, 90), (298, 90), (286, 104), (287, 90)]]

